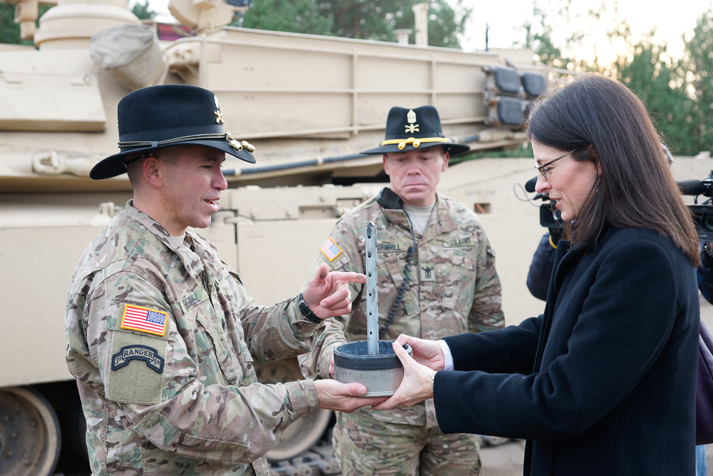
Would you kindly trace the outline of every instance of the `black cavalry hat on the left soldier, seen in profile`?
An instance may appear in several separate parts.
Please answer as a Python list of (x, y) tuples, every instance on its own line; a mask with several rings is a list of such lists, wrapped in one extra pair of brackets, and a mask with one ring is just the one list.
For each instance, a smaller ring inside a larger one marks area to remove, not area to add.
[(164, 84), (141, 88), (118, 105), (120, 153), (109, 156), (89, 172), (95, 180), (121, 175), (125, 163), (156, 149), (195, 144), (215, 148), (255, 163), (255, 148), (223, 131), (223, 118), (214, 93), (198, 86)]

